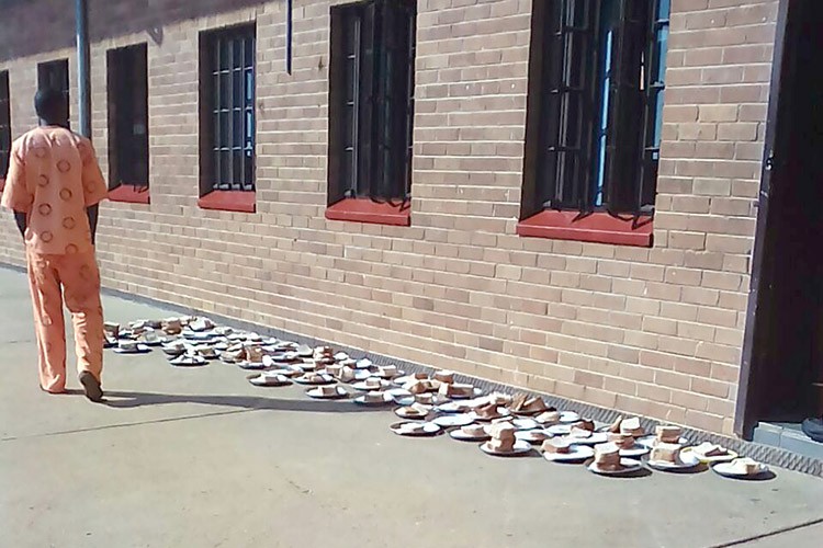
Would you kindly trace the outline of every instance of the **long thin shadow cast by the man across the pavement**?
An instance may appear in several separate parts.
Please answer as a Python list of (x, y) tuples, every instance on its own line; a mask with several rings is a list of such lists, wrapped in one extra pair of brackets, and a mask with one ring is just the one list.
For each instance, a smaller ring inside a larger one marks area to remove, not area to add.
[(262, 398), (259, 396), (198, 396), (124, 391), (106, 391), (105, 400), (103, 401), (103, 404), (117, 409), (162, 406), (167, 403), (201, 403), (239, 409), (307, 411), (313, 413), (364, 413), (384, 411), (386, 409), (361, 407), (354, 404), (351, 400), (289, 400)]

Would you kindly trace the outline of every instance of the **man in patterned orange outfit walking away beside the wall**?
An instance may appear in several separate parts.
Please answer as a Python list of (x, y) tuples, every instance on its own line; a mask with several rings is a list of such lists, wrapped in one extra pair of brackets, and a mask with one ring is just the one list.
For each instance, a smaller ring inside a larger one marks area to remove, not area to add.
[(91, 141), (68, 129), (63, 93), (40, 90), (34, 107), (40, 127), (11, 147), (2, 205), (14, 212), (25, 240), (41, 388), (50, 393), (66, 389), (65, 299), (80, 383), (87, 398), (101, 401), (104, 335), (94, 235), (106, 185)]

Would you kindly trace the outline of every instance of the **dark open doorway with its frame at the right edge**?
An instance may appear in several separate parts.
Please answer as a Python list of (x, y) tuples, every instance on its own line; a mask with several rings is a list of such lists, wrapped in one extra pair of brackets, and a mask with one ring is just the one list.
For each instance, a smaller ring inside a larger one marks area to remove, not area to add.
[(736, 430), (823, 413), (823, 1), (782, 0)]

